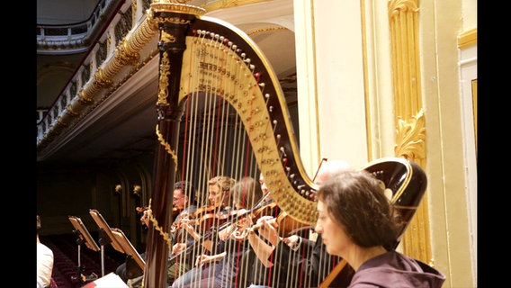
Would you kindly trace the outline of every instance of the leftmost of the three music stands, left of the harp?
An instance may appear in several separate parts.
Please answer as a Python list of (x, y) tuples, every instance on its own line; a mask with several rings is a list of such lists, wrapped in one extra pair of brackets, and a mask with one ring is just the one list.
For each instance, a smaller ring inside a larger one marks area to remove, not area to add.
[[(94, 281), (97, 279), (97, 275), (91, 274), (89, 276), (83, 275), (85, 272), (85, 266), (82, 266), (82, 260), (81, 260), (81, 254), (82, 254), (82, 244), (85, 243), (85, 246), (93, 251), (100, 251), (100, 247), (97, 246), (94, 239), (91, 237), (91, 234), (89, 231), (85, 228), (84, 222), (76, 216), (67, 216), (73, 227), (75, 228), (73, 230), (73, 233), (76, 235), (76, 244), (78, 245), (78, 266), (76, 268), (76, 274), (77, 278), (81, 280), (82, 283), (87, 283), (90, 281)], [(101, 250), (103, 252), (103, 249)], [(101, 264), (102, 264), (102, 272), (104, 275), (104, 259), (103, 259), (103, 253), (101, 257)]]

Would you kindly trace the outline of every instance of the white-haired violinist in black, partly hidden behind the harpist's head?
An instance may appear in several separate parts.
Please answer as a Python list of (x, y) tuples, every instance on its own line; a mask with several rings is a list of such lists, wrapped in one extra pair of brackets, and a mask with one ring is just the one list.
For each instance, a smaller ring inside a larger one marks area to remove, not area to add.
[[(347, 168), (349, 166), (343, 160), (328, 161), (320, 166), (314, 181), (320, 185), (330, 176)], [(273, 269), (270, 280), (251, 284), (249, 287), (318, 287), (341, 258), (327, 254), (321, 235), (316, 239), (299, 235), (280, 237), (275, 228), (278, 222), (275, 220), (276, 218), (267, 216), (259, 218), (255, 224), (255, 227), (260, 227), (257, 229), (258, 233), (248, 234), (251, 246), (257, 250), (255, 255), (258, 261)], [(268, 242), (271, 244), (268, 245)], [(346, 266), (330, 285), (347, 287), (353, 274), (353, 269)]]

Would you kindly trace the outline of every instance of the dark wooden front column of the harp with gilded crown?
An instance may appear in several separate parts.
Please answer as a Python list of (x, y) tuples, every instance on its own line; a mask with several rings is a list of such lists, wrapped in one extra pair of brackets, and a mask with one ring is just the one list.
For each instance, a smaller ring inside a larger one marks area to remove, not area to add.
[(170, 251), (168, 232), (172, 224), (172, 193), (177, 169), (175, 148), (179, 139), (179, 89), (185, 37), (196, 15), (204, 10), (187, 1), (157, 1), (151, 4), (153, 17), (160, 31), (158, 49), (157, 127), (158, 146), (154, 164), (151, 197), (153, 219), (149, 224), (144, 287), (166, 287), (167, 258)]

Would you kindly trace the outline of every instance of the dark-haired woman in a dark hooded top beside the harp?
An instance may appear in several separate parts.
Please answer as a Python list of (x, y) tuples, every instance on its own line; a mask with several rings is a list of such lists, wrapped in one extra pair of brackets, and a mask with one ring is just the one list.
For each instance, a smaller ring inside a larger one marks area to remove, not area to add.
[(399, 219), (380, 182), (365, 170), (345, 170), (318, 191), (318, 221), (327, 252), (354, 268), (349, 288), (442, 287), (445, 276), (431, 266), (387, 250), (399, 233)]

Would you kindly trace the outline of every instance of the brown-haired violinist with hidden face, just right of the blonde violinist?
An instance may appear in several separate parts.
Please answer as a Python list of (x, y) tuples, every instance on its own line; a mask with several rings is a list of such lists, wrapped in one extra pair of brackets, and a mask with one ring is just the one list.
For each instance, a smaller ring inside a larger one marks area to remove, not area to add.
[[(220, 253), (201, 255), (196, 267), (177, 278), (172, 287), (247, 287), (246, 278), (252, 271), (250, 263), (243, 261), (250, 246), (246, 239), (239, 239), (236, 234), (252, 224), (250, 213), (263, 192), (253, 177), (244, 177), (230, 190), (232, 201), (238, 211), (236, 221), (229, 223), (218, 233)], [(211, 198), (210, 198), (211, 199)], [(209, 265), (203, 265), (203, 264)]]

